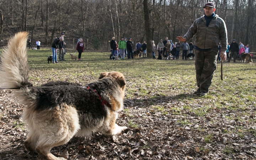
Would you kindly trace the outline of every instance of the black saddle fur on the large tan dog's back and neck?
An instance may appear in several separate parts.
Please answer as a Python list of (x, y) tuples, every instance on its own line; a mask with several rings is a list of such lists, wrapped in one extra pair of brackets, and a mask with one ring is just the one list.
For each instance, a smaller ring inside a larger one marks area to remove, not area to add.
[[(106, 117), (105, 107), (102, 106), (98, 95), (94, 89), (104, 100), (110, 101), (108, 93), (117, 90), (118, 84), (114, 83), (110, 78), (88, 84), (90, 89), (82, 88), (78, 83), (70, 83), (65, 81), (48, 82), (42, 86), (48, 87), (33, 87), (31, 93), (36, 96), (37, 105), (35, 110), (55, 110), (62, 103), (73, 105), (79, 117), (83, 119), (85, 114), (90, 114), (96, 119)], [(82, 120), (83, 121), (83, 120)]]

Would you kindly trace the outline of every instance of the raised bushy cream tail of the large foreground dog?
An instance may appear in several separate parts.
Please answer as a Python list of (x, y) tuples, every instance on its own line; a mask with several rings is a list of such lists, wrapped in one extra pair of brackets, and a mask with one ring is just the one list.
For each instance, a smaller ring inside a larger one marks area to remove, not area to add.
[(0, 88), (14, 89), (32, 86), (28, 80), (27, 62), (28, 32), (16, 33), (1, 53)]

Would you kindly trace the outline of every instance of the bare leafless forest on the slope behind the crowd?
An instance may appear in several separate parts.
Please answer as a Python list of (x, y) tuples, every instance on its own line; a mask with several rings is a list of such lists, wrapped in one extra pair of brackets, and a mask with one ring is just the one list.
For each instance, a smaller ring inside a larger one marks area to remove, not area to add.
[[(0, 46), (10, 36), (28, 31), (35, 45), (51, 46), (65, 33), (67, 48), (83, 38), (86, 49), (108, 50), (112, 37), (134, 42), (184, 35), (193, 21), (203, 16), (208, 0), (0, 0)], [(219, 17), (226, 22), (228, 42), (250, 44), (256, 50), (256, 1), (214, 0)], [(146, 20), (146, 21), (145, 21)], [(147, 32), (147, 34), (146, 34)], [(87, 45), (88, 39), (88, 45)]]

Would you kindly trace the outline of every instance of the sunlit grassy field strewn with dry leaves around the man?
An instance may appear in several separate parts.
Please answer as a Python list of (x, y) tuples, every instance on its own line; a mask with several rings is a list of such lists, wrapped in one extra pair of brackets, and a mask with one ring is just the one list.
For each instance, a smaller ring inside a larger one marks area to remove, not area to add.
[[(110, 53), (86, 52), (82, 53), (81, 61), (71, 61), (70, 55), (65, 55), (66, 61), (48, 64), (47, 57), (51, 54), (50, 49), (28, 51), (30, 80), (34, 86), (51, 80), (86, 85), (103, 71), (118, 71), (126, 78), (126, 108), (119, 114), (117, 123), (133, 130), (134, 136), (128, 137), (128, 133), (120, 135), (120, 143), (116, 144), (121, 151), (118, 153), (115, 148), (105, 152), (102, 159), (159, 156), (163, 159), (255, 158), (255, 62), (223, 63), (223, 81), (220, 80), (218, 62), (209, 93), (200, 97), (193, 94), (197, 89), (194, 60), (109, 60)], [(101, 136), (97, 134), (92, 139)], [(138, 152), (131, 152), (134, 149), (132, 144), (126, 151), (121, 141), (140, 142), (138, 136), (146, 143), (137, 146)], [(100, 145), (112, 140), (110, 137), (102, 139), (97, 141)], [(155, 150), (154, 146), (158, 149)], [(58, 149), (64, 151), (65, 147)], [(90, 147), (97, 150), (94, 144)], [(128, 152), (138, 156), (131, 157)], [(83, 156), (92, 159), (92, 155), (86, 154), (77, 154), (76, 158)], [(94, 157), (100, 156), (96, 154)]]

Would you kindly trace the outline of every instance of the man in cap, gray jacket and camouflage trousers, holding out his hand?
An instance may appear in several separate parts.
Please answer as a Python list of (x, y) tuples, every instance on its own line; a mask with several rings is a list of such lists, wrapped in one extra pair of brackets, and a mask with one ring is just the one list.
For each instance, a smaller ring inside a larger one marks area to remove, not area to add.
[[(195, 37), (195, 67), (197, 91), (194, 94), (204, 96), (209, 91), (212, 84), (214, 71), (217, 68), (217, 55), (219, 43), (222, 44), (220, 57), (226, 60), (227, 30), (225, 22), (218, 15), (215, 15), (215, 5), (208, 2), (204, 5), (205, 15), (196, 19), (185, 36), (178, 36), (181, 42), (188, 41)], [(205, 38), (207, 37), (207, 38)]]

